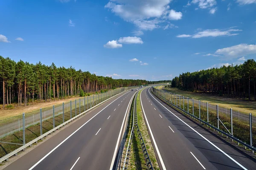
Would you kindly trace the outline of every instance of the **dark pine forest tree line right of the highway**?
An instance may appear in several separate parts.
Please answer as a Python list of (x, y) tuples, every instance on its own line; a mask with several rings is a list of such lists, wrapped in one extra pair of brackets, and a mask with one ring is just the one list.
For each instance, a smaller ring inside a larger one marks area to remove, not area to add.
[(241, 65), (222, 66), (186, 72), (172, 79), (172, 87), (197, 93), (209, 93), (256, 100), (256, 62), (248, 59)]

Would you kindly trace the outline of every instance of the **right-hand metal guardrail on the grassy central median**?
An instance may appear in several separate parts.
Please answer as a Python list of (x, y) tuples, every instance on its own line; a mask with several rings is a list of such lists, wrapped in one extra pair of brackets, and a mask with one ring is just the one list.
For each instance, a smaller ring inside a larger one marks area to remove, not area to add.
[(147, 151), (147, 148), (145, 146), (144, 140), (143, 140), (142, 135), (140, 133), (140, 128), (138, 126), (138, 122), (137, 122), (137, 107), (136, 106), (137, 106), (137, 95), (136, 95), (135, 101), (134, 101), (134, 125), (135, 125), (135, 128), (137, 130), (138, 136), (140, 138), (140, 144), (141, 144), (141, 148), (142, 148), (142, 151), (143, 151), (143, 154), (144, 154), (144, 158), (145, 158), (148, 170), (154, 170), (154, 168), (152, 166), (152, 163), (151, 163), (151, 160), (149, 158), (148, 151)]

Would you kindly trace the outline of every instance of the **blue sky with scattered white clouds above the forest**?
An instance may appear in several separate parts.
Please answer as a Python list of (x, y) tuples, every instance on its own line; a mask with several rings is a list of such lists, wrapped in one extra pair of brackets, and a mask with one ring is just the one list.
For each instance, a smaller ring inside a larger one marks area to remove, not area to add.
[(256, 59), (256, 0), (2, 0), (0, 55), (122, 79)]

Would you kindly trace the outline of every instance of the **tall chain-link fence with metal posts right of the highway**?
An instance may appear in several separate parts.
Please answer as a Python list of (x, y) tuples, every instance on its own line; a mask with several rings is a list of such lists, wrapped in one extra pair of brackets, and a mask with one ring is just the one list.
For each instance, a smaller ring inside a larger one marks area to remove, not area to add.
[(153, 92), (181, 110), (217, 127), (250, 146), (256, 147), (256, 116), (252, 116), (251, 113), (241, 113), (231, 108), (219, 107), (218, 105), (190, 99), (156, 88), (153, 88)]

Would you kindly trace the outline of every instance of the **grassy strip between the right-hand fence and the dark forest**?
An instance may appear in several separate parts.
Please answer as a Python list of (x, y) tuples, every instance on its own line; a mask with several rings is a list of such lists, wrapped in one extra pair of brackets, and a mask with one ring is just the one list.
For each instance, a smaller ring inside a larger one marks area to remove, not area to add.
[(219, 105), (223, 108), (232, 108), (234, 111), (239, 111), (241, 113), (252, 113), (256, 116), (256, 102), (243, 101), (241, 99), (231, 99), (221, 96), (212, 96), (208, 94), (199, 94), (189, 91), (179, 90), (177, 88), (165, 88), (163, 86), (158, 86), (158, 89), (164, 89), (166, 91), (172, 92), (174, 94), (179, 94), (181, 96), (198, 99), (202, 102), (210, 102), (213, 105)]

